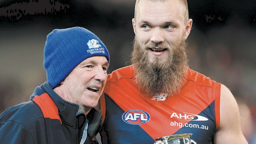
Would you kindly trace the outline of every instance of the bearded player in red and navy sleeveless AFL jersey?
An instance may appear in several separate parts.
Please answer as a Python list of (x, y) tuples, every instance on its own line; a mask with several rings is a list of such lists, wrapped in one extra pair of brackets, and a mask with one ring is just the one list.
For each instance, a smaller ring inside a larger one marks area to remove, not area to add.
[(108, 75), (100, 98), (103, 143), (186, 134), (194, 144), (247, 144), (230, 90), (187, 65), (187, 1), (137, 0), (132, 24), (132, 65)]

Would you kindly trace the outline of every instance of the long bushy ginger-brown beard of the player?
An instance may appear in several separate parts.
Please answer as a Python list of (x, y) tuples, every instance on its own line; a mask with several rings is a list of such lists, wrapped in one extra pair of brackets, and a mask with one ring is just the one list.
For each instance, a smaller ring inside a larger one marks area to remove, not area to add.
[[(156, 93), (167, 94), (167, 96), (178, 94), (187, 76), (185, 39), (173, 47), (164, 44), (158, 46), (167, 48), (168, 58), (163, 61), (161, 56), (156, 56), (155, 60), (150, 63), (147, 51), (155, 45), (146, 44), (141, 47), (135, 38), (131, 59), (134, 65), (135, 81), (147, 96), (154, 96)], [(158, 62), (160, 59), (161, 63)]]

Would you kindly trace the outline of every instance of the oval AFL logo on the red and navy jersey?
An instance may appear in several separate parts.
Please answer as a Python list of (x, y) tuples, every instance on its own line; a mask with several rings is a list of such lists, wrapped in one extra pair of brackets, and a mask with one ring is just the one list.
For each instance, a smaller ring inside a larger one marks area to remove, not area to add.
[(150, 115), (142, 110), (131, 109), (122, 114), (122, 120), (127, 124), (145, 124), (150, 120)]

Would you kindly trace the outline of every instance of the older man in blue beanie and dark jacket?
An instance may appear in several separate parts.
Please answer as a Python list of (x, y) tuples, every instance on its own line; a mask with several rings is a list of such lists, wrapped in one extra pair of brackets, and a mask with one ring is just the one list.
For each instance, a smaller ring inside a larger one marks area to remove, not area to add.
[(97, 143), (102, 115), (93, 107), (106, 84), (106, 46), (85, 28), (56, 29), (47, 36), (44, 55), (47, 81), (30, 101), (0, 115), (0, 143)]

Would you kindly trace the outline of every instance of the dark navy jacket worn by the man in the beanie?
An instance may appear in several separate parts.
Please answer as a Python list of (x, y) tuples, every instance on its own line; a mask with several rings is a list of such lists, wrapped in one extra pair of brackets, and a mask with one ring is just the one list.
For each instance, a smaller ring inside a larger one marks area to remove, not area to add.
[[(33, 102), (35, 96), (41, 95), (49, 95), (53, 100), (61, 122), (44, 117), (40, 107)], [(63, 100), (45, 82), (35, 89), (30, 101), (0, 114), (0, 144), (80, 144), (86, 119), (89, 124), (84, 144), (96, 144), (92, 139), (98, 133), (102, 115), (91, 109), (86, 116), (78, 104)]]

